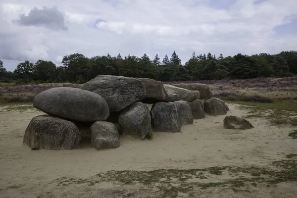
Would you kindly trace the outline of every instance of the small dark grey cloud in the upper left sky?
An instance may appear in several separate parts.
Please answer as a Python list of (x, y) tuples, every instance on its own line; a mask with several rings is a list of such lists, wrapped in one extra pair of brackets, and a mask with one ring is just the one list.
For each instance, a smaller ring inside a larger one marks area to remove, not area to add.
[(55, 7), (44, 6), (42, 9), (34, 7), (28, 15), (22, 14), (13, 22), (23, 26), (44, 26), (52, 30), (68, 30), (64, 14)]

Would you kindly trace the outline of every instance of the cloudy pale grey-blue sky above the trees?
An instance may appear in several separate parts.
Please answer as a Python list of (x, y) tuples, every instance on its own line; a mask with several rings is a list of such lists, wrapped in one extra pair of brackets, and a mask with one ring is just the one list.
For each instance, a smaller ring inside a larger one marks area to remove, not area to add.
[(297, 50), (297, 0), (1, 0), (0, 59), (13, 71), (82, 53), (161, 59)]

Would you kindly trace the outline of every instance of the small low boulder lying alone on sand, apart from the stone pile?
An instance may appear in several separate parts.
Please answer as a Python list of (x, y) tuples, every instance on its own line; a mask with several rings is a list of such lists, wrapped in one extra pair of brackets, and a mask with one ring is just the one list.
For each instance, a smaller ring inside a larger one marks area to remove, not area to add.
[(228, 115), (224, 118), (224, 128), (245, 130), (253, 128), (253, 126), (246, 119), (233, 115)]

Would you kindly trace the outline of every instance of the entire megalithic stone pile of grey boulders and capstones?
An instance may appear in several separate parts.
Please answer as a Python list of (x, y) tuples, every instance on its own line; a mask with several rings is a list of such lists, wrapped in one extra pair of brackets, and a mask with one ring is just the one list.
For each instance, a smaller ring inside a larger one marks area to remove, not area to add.
[(153, 131), (180, 133), (205, 113), (227, 113), (228, 106), (211, 98), (207, 85), (196, 87), (207, 95), (204, 103), (195, 85), (188, 90), (148, 78), (99, 75), (81, 89), (52, 88), (34, 98), (34, 107), (46, 115), (31, 120), (23, 143), (32, 149), (73, 149), (87, 137), (98, 150), (118, 148), (122, 134), (151, 139)]

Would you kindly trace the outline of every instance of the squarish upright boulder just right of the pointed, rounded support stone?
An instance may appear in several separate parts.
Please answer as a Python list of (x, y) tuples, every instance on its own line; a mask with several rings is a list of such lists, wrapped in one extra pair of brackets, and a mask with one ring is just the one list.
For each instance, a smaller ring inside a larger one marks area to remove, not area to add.
[(157, 102), (150, 109), (151, 125), (159, 132), (179, 133), (181, 124), (173, 102)]

